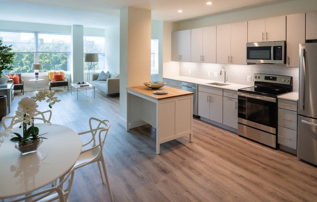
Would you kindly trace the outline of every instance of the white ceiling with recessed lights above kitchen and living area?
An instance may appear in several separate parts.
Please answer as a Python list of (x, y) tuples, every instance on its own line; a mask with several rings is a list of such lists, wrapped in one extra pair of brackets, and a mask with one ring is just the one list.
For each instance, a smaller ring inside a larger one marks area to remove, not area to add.
[[(152, 10), (152, 19), (181, 21), (291, 0), (0, 0), (0, 20), (80, 24), (103, 28), (118, 20), (125, 6)], [(183, 10), (178, 13), (177, 10)]]

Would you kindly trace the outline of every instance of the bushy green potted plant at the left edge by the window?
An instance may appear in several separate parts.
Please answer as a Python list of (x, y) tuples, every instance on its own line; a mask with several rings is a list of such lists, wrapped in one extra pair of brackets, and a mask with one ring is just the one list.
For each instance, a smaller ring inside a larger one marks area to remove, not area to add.
[(12, 45), (3, 45), (0, 39), (0, 84), (5, 84), (9, 80), (9, 77), (3, 74), (3, 70), (12, 70), (13, 59), (16, 55), (15, 52), (11, 52)]

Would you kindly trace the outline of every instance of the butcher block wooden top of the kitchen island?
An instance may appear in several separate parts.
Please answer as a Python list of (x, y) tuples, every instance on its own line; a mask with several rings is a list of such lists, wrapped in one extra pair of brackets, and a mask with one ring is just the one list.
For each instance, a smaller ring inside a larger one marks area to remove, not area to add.
[[(161, 87), (159, 89), (151, 89), (151, 88), (148, 88), (144, 85), (141, 85), (141, 86), (127, 87), (126, 89), (131, 90), (131, 91), (135, 91), (137, 93), (141, 93), (145, 96), (148, 96), (150, 98), (154, 98), (157, 100), (176, 98), (176, 97), (180, 97), (180, 96), (194, 94), (193, 92), (189, 92), (186, 90), (180, 90), (180, 89), (172, 88), (172, 87), (168, 87), (168, 86), (164, 86), (164, 87)], [(168, 91), (168, 93), (163, 94), (163, 95), (158, 95), (158, 94), (154, 94), (155, 91)]]

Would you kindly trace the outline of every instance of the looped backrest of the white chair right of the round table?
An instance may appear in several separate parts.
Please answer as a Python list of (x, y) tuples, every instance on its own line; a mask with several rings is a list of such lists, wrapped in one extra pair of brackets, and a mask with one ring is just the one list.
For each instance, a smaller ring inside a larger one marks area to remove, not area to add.
[[(93, 117), (89, 118), (90, 131), (78, 133), (78, 135), (87, 134), (89, 132), (91, 133), (91, 136), (92, 136), (91, 139), (87, 143), (84, 143), (82, 145), (84, 151), (99, 147), (100, 148), (99, 155), (101, 155), (104, 144), (105, 144), (106, 137), (108, 135), (110, 125), (111, 125), (110, 120), (107, 120), (107, 119), (100, 120), (98, 118), (93, 118)], [(97, 134), (98, 134), (98, 139), (96, 139)], [(92, 143), (92, 146), (90, 143)], [(87, 149), (87, 147), (90, 147), (90, 148)], [(82, 151), (82, 152), (84, 152), (84, 151)]]

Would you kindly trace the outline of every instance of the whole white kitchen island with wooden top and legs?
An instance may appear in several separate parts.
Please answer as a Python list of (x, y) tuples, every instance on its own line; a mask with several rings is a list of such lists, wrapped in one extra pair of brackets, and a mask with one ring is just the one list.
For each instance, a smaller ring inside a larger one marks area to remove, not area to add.
[[(156, 128), (156, 153), (161, 143), (193, 132), (193, 94), (168, 86), (151, 89), (146, 86), (127, 87), (126, 130), (150, 124)], [(168, 91), (157, 95), (155, 91)]]

